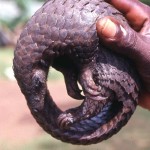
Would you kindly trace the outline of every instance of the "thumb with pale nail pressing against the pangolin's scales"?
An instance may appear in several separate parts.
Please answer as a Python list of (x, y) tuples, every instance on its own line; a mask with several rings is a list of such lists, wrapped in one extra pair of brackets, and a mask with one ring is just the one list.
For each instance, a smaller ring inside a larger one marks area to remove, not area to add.
[(101, 41), (112, 50), (127, 55), (135, 62), (142, 59), (149, 61), (146, 39), (129, 26), (122, 25), (112, 17), (98, 20), (96, 26)]

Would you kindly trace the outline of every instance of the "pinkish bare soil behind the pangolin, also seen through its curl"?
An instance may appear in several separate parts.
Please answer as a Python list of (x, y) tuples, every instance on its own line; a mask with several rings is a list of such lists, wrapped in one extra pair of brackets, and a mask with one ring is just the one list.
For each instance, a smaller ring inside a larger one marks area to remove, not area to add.
[[(52, 97), (62, 109), (78, 105), (68, 97), (63, 81), (48, 83)], [(44, 133), (33, 119), (15, 81), (0, 80), (0, 141), (25, 142)]]

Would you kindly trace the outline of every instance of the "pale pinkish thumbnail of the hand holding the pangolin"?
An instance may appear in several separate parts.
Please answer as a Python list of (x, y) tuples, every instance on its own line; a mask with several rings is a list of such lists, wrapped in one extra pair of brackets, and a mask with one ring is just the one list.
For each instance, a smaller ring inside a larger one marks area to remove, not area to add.
[(97, 22), (97, 29), (98, 32), (106, 38), (113, 38), (117, 33), (117, 25), (109, 18), (99, 20)]

